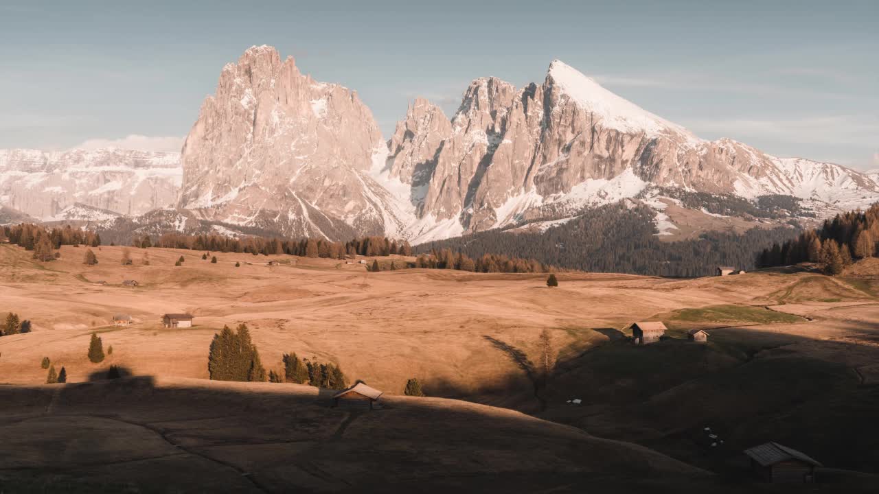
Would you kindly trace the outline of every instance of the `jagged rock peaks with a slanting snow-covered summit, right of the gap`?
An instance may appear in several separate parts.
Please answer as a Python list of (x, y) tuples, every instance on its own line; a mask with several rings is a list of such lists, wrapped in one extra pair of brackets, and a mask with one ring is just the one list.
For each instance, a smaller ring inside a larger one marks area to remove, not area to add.
[(879, 200), (866, 174), (703, 141), (560, 61), (543, 84), (518, 90), (476, 79), (450, 122), (417, 100), (389, 149), (386, 169), (410, 185), (416, 205), (416, 242), (559, 220), (655, 187), (790, 195), (827, 212)]

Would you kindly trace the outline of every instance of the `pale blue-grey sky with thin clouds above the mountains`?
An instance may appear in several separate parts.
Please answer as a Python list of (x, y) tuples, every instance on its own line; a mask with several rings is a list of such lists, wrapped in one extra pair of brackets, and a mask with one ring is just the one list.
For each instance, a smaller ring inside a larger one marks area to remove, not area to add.
[(705, 139), (879, 168), (879, 1), (0, 4), (0, 149), (179, 150), (252, 45), (358, 91), (386, 138), (421, 96), (560, 59)]

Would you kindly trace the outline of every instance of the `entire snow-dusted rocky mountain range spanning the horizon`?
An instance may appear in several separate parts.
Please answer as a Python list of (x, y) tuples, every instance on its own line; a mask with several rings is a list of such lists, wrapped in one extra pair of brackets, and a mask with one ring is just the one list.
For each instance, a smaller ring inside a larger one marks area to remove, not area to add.
[[(760, 198), (788, 207), (740, 207)], [(418, 98), (386, 142), (356, 91), (266, 46), (222, 69), (179, 155), (0, 150), (0, 206), (144, 232), (421, 243), (560, 228), (620, 200), (651, 207), (657, 235), (676, 238), (867, 207), (879, 175), (704, 141), (557, 60), (542, 84), (474, 80), (451, 120)], [(718, 213), (718, 200), (739, 206)]]

